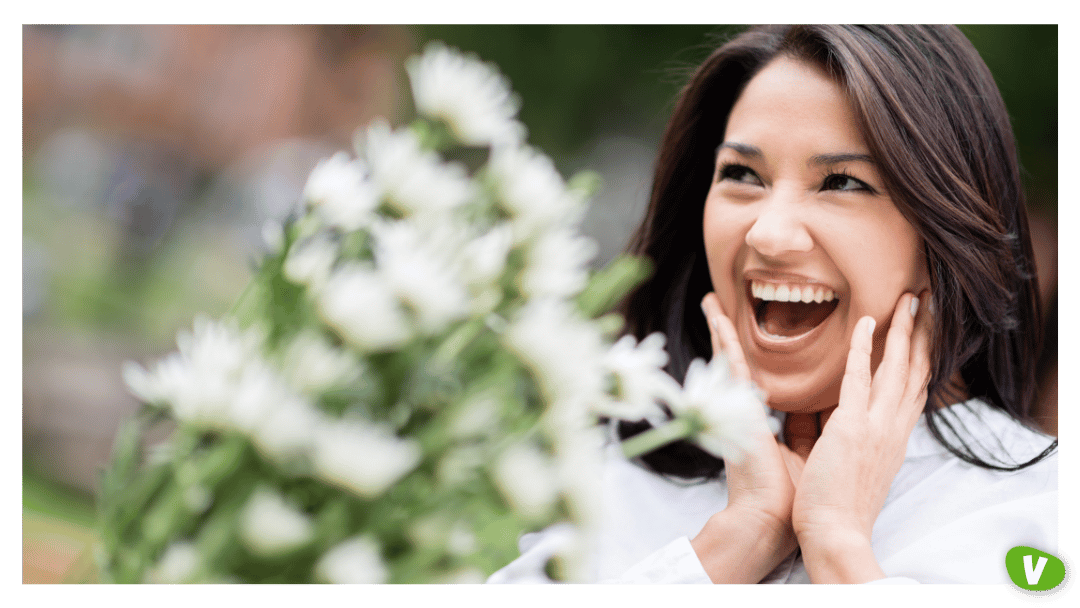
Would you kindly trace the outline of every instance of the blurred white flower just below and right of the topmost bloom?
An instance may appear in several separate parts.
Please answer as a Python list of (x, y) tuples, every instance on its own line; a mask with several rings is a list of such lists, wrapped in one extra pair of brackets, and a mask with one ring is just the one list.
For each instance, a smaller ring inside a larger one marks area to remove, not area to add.
[(551, 159), (527, 147), (497, 148), (488, 165), (499, 202), (513, 217), (518, 241), (549, 226), (573, 226), (585, 206), (566, 188)]

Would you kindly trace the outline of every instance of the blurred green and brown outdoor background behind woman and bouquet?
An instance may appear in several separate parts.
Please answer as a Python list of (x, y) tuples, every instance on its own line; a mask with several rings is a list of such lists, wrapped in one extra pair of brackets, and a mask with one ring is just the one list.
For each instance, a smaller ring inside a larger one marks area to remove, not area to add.
[[(1012, 114), (1057, 432), (1056, 26), (961, 26)], [(136, 403), (125, 360), (225, 313), (315, 162), (410, 116), (403, 60), (441, 39), (500, 67), (529, 140), (597, 171), (597, 265), (640, 219), (674, 97), (730, 26), (23, 27), (23, 582), (94, 582), (94, 490)]]

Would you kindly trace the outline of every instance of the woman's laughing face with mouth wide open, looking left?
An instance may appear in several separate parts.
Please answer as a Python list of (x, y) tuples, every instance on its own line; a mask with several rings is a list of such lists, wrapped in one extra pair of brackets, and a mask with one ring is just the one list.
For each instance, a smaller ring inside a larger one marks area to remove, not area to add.
[(752, 79), (728, 118), (705, 201), (713, 287), (772, 407), (836, 405), (851, 333), (929, 286), (921, 240), (869, 157), (840, 87), (788, 57)]

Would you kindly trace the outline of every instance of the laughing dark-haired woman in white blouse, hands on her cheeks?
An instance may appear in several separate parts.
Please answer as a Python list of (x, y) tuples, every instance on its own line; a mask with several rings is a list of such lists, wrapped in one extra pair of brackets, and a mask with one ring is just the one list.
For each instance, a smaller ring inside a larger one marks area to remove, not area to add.
[[(1009, 549), (1056, 551), (1015, 145), (955, 27), (721, 46), (680, 96), (633, 251), (656, 272), (629, 330), (663, 333), (676, 378), (723, 351), (785, 420), (739, 464), (688, 443), (610, 458), (597, 580), (1007, 584)], [(491, 581), (537, 580), (561, 533)]]

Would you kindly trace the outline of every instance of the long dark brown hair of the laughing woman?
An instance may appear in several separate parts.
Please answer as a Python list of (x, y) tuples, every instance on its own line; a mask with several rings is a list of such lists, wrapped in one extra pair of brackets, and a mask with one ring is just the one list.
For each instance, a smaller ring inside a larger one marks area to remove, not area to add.
[[(986, 65), (955, 26), (762, 26), (715, 51), (679, 95), (657, 160), (652, 194), (631, 252), (654, 264), (621, 312), (639, 339), (667, 337), (669, 371), (683, 378), (711, 354), (699, 308), (712, 291), (702, 241), (705, 195), (728, 113), (745, 84), (773, 58), (813, 62), (851, 100), (870, 154), (897, 208), (924, 243), (935, 316), (926, 417), (959, 458), (1015, 470), (987, 446), (964, 441), (935, 403), (956, 403), (959, 374), (980, 397), (1031, 423), (1040, 354), (1039, 293), (1016, 146)], [(648, 422), (620, 422), (620, 435)], [(943, 433), (954, 438), (947, 441)], [(712, 477), (723, 462), (687, 442), (646, 455), (653, 470)]]

